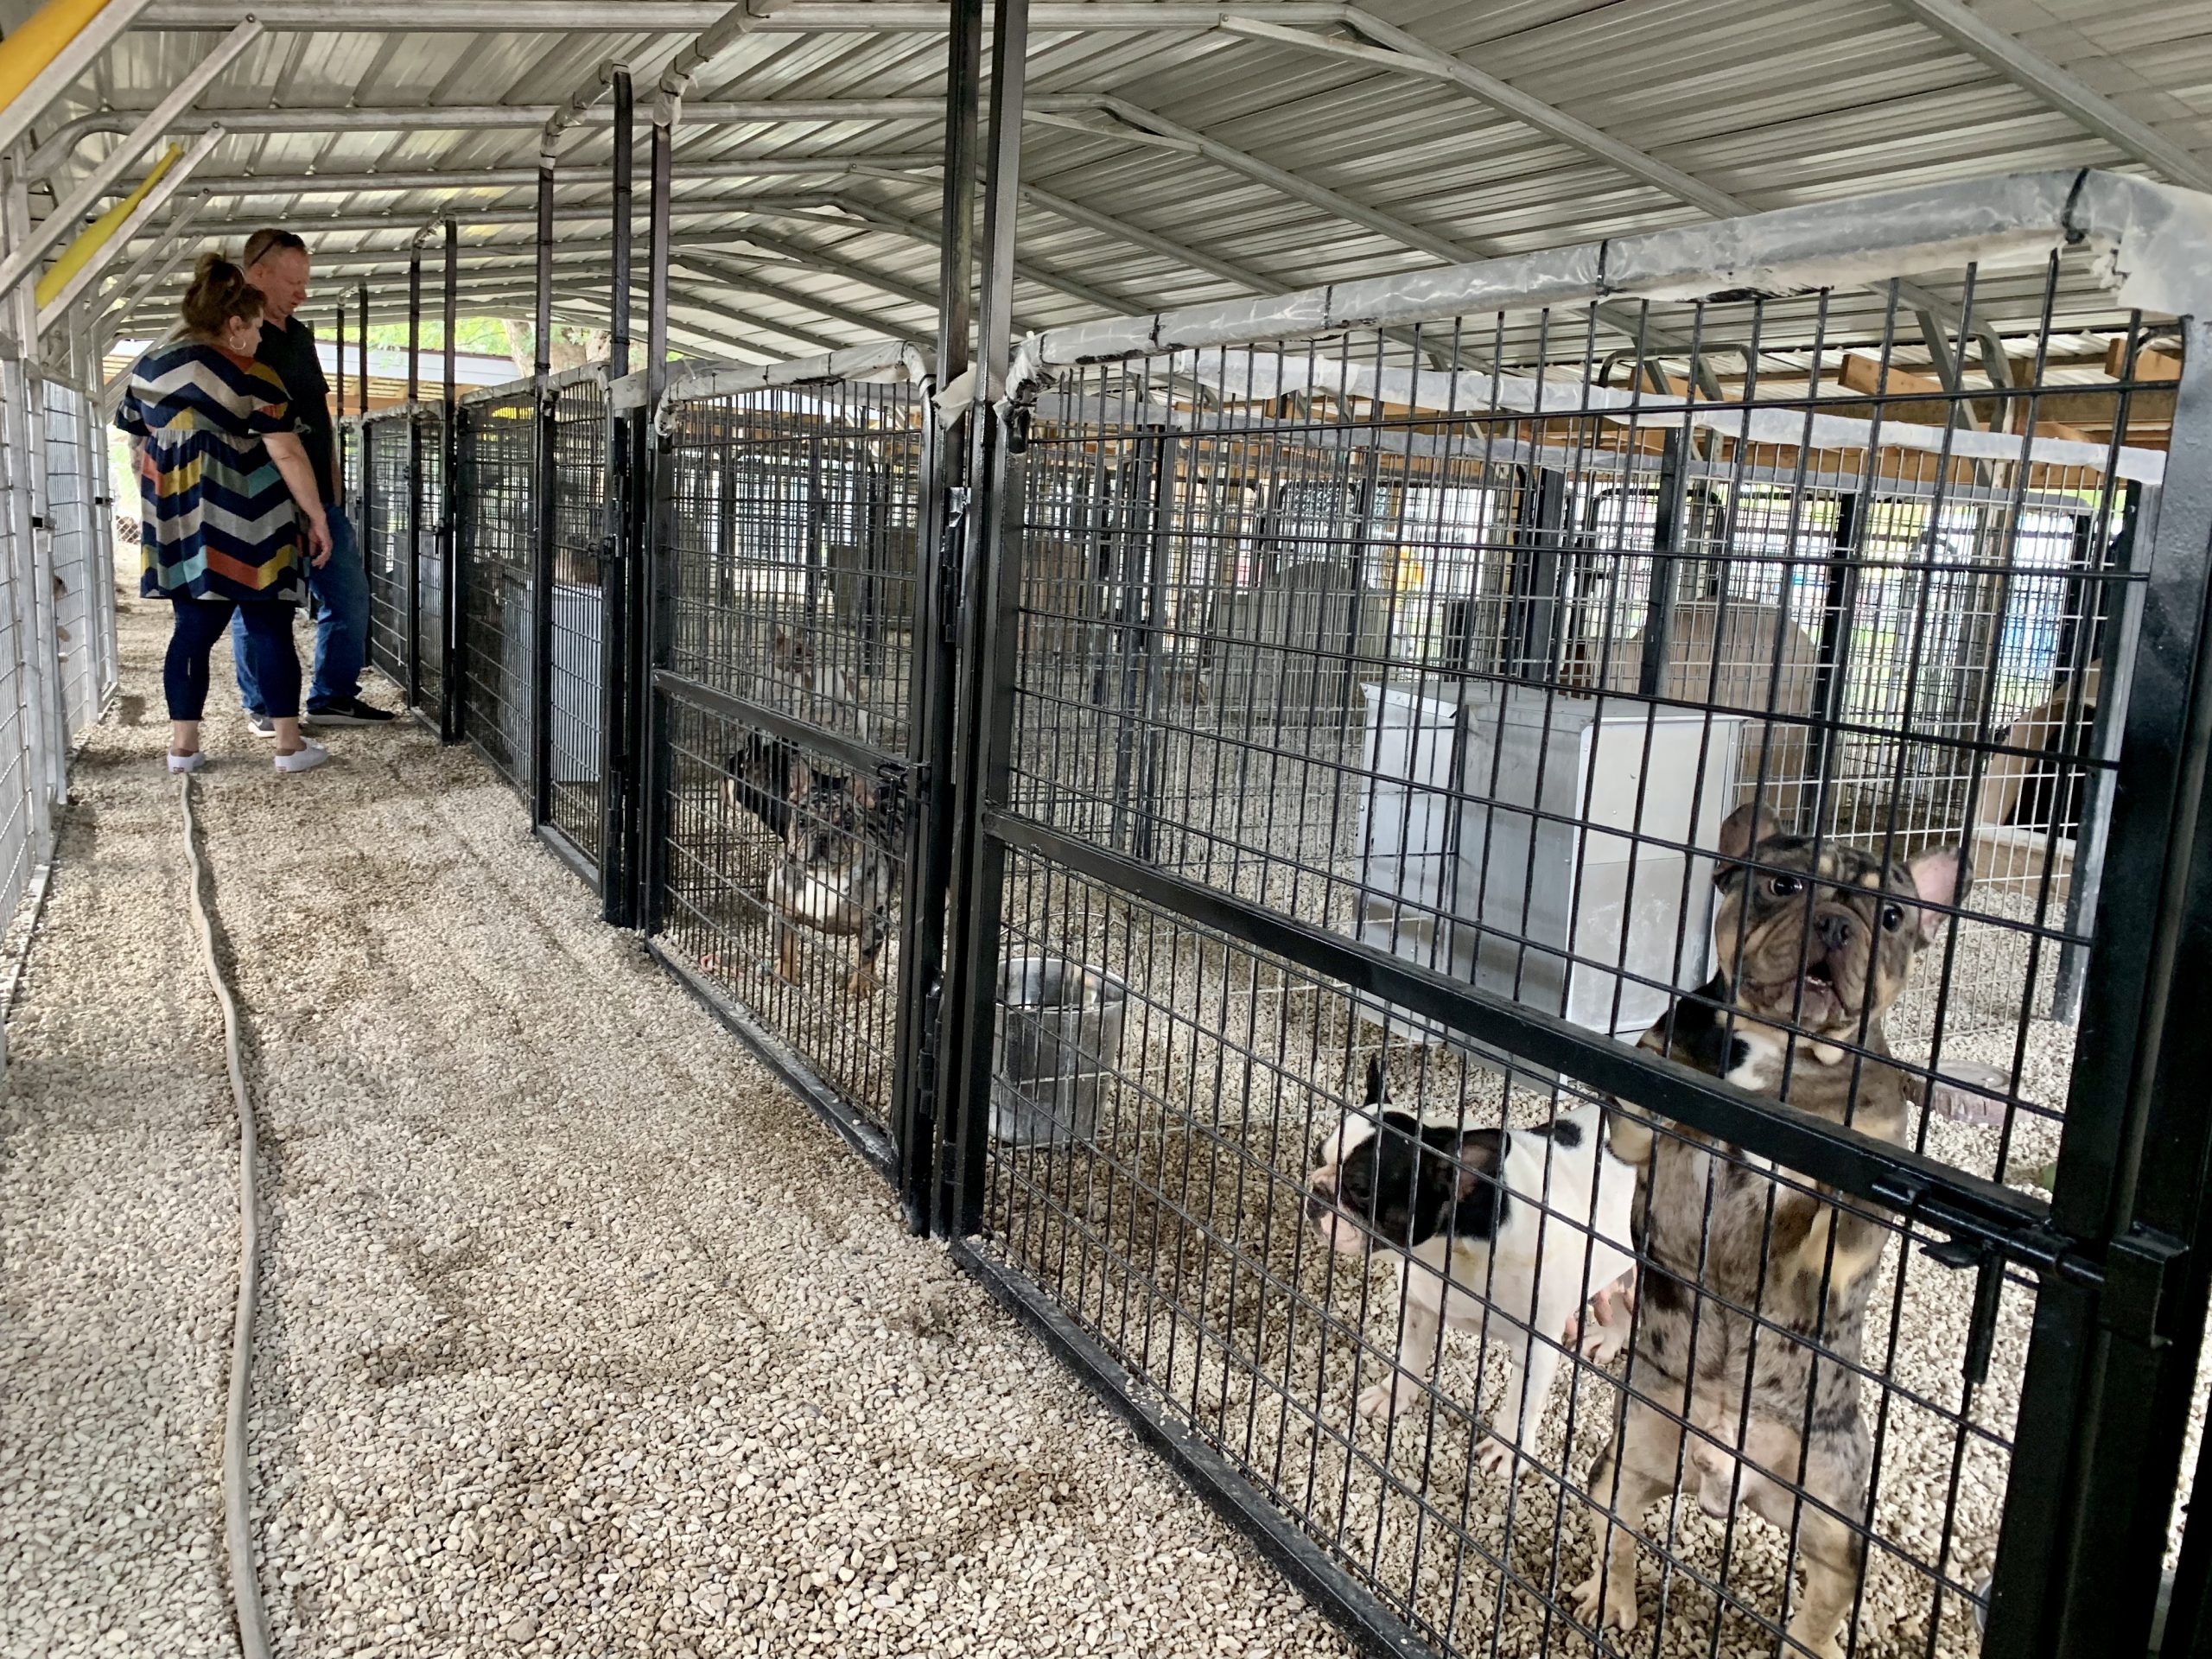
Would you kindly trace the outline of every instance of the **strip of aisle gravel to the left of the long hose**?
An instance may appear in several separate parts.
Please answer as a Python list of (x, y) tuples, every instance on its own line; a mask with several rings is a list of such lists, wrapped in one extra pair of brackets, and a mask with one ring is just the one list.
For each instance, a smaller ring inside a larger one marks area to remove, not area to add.
[[(122, 639), (126, 684), (159, 639)], [(221, 1391), (237, 1119), (135, 695), (77, 761), (0, 1097), (0, 1655), (237, 1652)], [(159, 730), (166, 737), (166, 726)]]

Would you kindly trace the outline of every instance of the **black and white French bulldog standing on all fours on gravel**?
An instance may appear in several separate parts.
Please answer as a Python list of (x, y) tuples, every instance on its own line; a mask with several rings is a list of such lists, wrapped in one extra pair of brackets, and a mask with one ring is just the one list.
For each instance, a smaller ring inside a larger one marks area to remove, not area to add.
[[(1635, 1265), (1637, 1170), (1613, 1155), (1606, 1110), (1582, 1106), (1537, 1128), (1422, 1124), (1385, 1110), (1383, 1062), (1367, 1102), (1323, 1137), (1305, 1214), (1347, 1256), (1402, 1259), (1398, 1358), (1360, 1389), (1365, 1418), (1396, 1416), (1436, 1369), (1442, 1334), (1478, 1329), (1513, 1371), (1504, 1409), (1475, 1460), (1498, 1473), (1526, 1453), (1579, 1314)], [(1495, 1321), (1495, 1323), (1491, 1323)], [(1608, 1360), (1628, 1338), (1626, 1307), (1597, 1303), (1584, 1354)]]

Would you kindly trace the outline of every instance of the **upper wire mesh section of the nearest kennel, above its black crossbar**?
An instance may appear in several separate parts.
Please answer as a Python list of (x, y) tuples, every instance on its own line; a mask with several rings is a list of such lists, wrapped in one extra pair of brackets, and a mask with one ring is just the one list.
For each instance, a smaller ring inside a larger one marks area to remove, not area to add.
[[(1960, 847), (1973, 878), (1929, 911), (1887, 1040), (1938, 1097), (1916, 1148), (2035, 1168), (2073, 1046), (2046, 1015), (2088, 947), (2073, 849), (2117, 759), (2097, 688), (2126, 690), (2106, 664), (2143, 580), (2121, 469), (2163, 458), (2064, 440), (2000, 487), (1893, 414), (1929, 394), (1849, 392), (1838, 365), (1893, 372), (1896, 334), (1832, 341), (1820, 301), (1699, 310), (1639, 321), (1752, 341), (1725, 418), (1829, 449), (1599, 398), (1586, 321), (1513, 383), (1391, 367), (1480, 356), (1471, 323), (1062, 376), (1022, 458), (1009, 803), (1626, 1040), (1717, 967), (1736, 807), (1876, 865)], [(2084, 327), (2148, 349), (2126, 316)], [(1360, 385), (1383, 396), (1332, 392)], [(2110, 429), (2143, 389), (2104, 387), (2068, 411)], [(1986, 447), (1973, 407), (1944, 403)]]

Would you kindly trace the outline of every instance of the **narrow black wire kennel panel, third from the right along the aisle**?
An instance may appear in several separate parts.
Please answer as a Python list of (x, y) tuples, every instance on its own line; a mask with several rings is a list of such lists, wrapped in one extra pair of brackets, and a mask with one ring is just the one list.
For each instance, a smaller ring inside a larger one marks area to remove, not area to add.
[(602, 557), (611, 535), (606, 491), (606, 372), (553, 376), (553, 617), (546, 712), (551, 823), (586, 860), (606, 827), (606, 672)]

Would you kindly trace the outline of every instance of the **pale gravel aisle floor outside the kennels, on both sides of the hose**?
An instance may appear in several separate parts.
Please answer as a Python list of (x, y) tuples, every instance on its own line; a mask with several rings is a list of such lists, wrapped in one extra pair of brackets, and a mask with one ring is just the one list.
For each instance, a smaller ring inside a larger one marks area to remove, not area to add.
[[(161, 622), (126, 606), (133, 699), (11, 1022), (7, 1655), (228, 1644), (230, 1128), (135, 701)], [(1345, 1652), (591, 918), (478, 761), (347, 732), (279, 781), (223, 710), (210, 750), (281, 1652)]]

